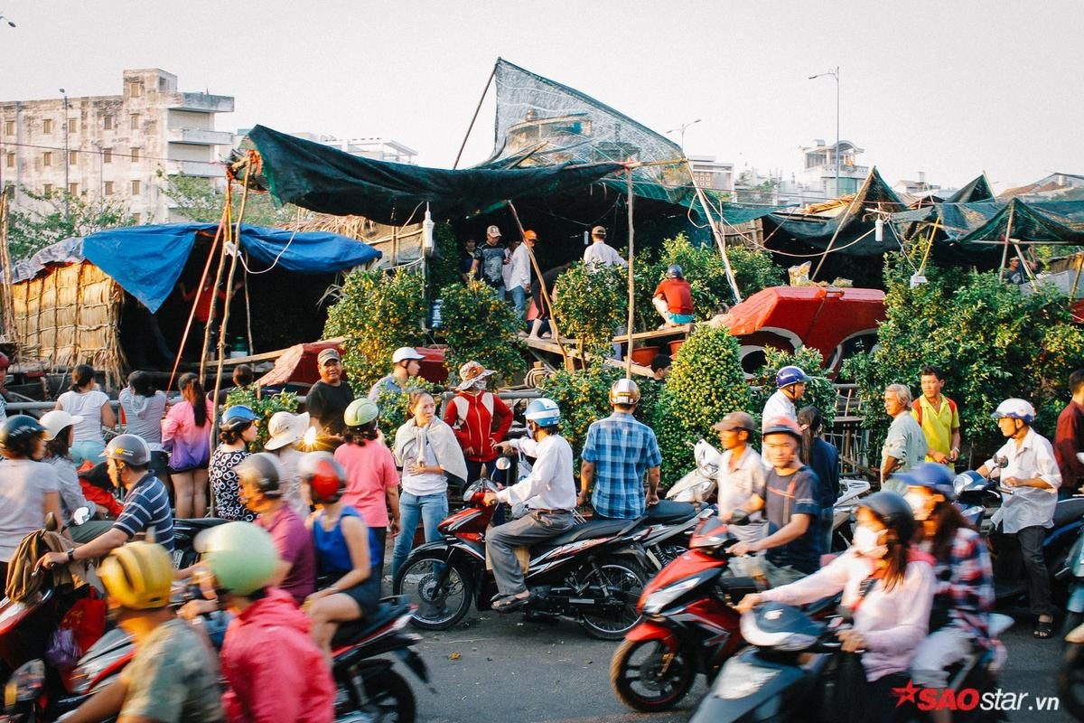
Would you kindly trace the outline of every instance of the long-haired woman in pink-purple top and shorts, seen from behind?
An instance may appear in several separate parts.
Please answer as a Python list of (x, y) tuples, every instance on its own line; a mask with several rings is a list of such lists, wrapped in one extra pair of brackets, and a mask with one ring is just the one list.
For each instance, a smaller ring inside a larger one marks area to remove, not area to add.
[(169, 452), (176, 517), (207, 514), (207, 463), (210, 460), (211, 403), (199, 377), (191, 372), (177, 380), (181, 401), (162, 422), (162, 444)]

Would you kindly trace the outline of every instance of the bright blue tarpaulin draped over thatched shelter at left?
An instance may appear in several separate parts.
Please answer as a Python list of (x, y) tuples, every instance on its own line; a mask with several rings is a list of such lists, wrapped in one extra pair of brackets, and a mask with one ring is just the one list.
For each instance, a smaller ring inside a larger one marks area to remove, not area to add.
[[(217, 223), (111, 229), (86, 236), (81, 256), (112, 276), (147, 309), (157, 311), (177, 284), (195, 245), (196, 234), (214, 236), (217, 229)], [(54, 246), (67, 244), (65, 254), (70, 257), (75, 248), (70, 241)], [(247, 251), (253, 271), (267, 269), (278, 258), (275, 268), (284, 271), (328, 273), (352, 269), (380, 257), (380, 253), (369, 244), (335, 233), (294, 233), (258, 225), (241, 227), (241, 247)]]

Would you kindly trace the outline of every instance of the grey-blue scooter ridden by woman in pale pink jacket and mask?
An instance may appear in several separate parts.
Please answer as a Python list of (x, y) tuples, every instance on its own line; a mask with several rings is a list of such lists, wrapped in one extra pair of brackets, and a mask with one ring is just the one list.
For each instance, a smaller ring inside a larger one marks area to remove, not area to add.
[[(740, 630), (750, 647), (726, 661), (689, 723), (838, 720), (836, 672), (842, 656), (850, 655), (842, 653), (838, 633), (848, 624), (846, 615), (816, 621), (779, 603), (746, 612)], [(991, 634), (996, 638), (1011, 624), (1008, 616), (993, 615)], [(995, 650), (977, 647), (950, 669), (949, 687), (973, 688), (980, 695), (995, 689), (996, 660)], [(955, 711), (953, 720), (981, 720), (986, 714), (979, 708)]]

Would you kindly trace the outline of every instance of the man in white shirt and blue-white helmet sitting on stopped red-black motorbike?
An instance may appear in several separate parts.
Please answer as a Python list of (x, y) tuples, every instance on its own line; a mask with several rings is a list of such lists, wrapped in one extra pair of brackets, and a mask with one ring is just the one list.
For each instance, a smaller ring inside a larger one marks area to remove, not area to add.
[(535, 399), (527, 406), (527, 429), (531, 439), (500, 442), (502, 452), (520, 450), (535, 457), (531, 474), (500, 492), (487, 492), (486, 503), (525, 504), (528, 513), (490, 530), (486, 550), (493, 564), (493, 578), (500, 599), (498, 612), (522, 607), (531, 598), (524, 584), (524, 572), (516, 558), (516, 547), (557, 537), (572, 527), (576, 508), (576, 480), (572, 477), (572, 448), (557, 434), (560, 409), (552, 399)]

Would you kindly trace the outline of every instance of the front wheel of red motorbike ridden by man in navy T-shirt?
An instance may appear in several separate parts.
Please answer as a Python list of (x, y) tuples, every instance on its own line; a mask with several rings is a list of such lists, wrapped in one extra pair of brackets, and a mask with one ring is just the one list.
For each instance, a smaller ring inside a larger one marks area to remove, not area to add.
[[(667, 656), (672, 657), (667, 659)], [(664, 672), (663, 672), (664, 671)], [(618, 700), (647, 713), (670, 710), (696, 680), (693, 661), (661, 641), (625, 641), (610, 659), (610, 686)]]

